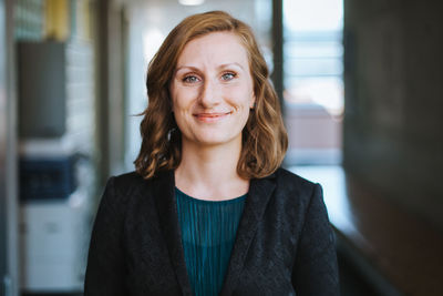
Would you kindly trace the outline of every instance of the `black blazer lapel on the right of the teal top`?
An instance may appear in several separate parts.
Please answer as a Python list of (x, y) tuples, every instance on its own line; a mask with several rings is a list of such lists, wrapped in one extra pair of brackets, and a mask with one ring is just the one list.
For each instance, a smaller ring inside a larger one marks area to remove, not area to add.
[(249, 245), (261, 221), (266, 206), (276, 187), (275, 175), (251, 180), (244, 213), (237, 228), (237, 236), (226, 272), (220, 295), (230, 295), (237, 285)]

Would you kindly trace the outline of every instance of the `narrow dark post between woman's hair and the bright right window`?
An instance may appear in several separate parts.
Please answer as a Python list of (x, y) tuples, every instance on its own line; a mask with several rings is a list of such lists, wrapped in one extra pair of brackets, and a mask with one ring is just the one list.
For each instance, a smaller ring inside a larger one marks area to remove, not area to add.
[(272, 0), (272, 52), (271, 79), (282, 106), (284, 100), (284, 13), (282, 0)]

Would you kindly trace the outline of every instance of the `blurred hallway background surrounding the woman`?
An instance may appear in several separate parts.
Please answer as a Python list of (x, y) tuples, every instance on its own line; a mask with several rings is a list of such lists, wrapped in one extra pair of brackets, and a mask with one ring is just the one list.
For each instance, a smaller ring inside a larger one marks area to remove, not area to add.
[(0, 0), (0, 296), (81, 295), (109, 176), (133, 170), (146, 68), (186, 16), (249, 23), (323, 186), (342, 295), (443, 295), (443, 4)]

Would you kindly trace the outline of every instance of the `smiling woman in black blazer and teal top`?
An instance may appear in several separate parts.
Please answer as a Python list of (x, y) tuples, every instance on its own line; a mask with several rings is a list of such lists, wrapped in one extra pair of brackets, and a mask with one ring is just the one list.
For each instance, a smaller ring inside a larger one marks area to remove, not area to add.
[(250, 28), (186, 18), (146, 85), (136, 172), (106, 185), (85, 295), (338, 295), (321, 188), (279, 169), (287, 135)]

